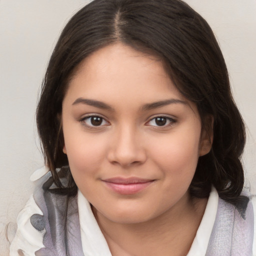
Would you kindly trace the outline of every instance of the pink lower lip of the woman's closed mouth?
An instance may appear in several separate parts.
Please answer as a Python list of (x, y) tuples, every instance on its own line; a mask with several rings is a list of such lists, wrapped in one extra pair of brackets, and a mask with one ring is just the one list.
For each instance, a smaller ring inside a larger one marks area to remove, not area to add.
[(119, 184), (119, 183), (104, 181), (107, 187), (109, 187), (114, 192), (117, 192), (119, 194), (135, 194), (143, 190), (147, 186), (149, 186), (152, 182), (153, 180), (148, 182), (141, 182), (141, 183)]

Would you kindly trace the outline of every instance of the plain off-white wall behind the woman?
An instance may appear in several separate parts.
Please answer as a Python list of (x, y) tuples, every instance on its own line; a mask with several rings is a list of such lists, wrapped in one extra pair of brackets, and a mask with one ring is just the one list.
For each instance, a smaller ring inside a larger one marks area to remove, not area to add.
[[(211, 25), (247, 124), (243, 155), (247, 185), (256, 193), (256, 1), (185, 0)], [(15, 222), (43, 165), (34, 112), (38, 88), (57, 36), (86, 0), (0, 0), (0, 255), (4, 227)]]

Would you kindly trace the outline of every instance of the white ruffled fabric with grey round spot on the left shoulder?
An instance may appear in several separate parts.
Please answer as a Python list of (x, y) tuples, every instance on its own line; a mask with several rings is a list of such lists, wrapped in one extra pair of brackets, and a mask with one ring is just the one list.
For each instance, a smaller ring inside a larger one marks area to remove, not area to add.
[(10, 256), (35, 255), (35, 251), (45, 247), (45, 219), (47, 207), (45, 191), (51, 183), (51, 174), (46, 168), (36, 170), (30, 177), (35, 182), (33, 194), (18, 213), (17, 230), (10, 244)]

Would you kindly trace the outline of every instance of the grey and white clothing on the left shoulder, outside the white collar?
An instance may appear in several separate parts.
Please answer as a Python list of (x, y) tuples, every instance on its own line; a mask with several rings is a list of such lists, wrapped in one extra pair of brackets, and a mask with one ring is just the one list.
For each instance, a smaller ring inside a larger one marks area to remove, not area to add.
[(18, 214), (10, 256), (35, 255), (35, 251), (44, 256), (66, 251), (82, 255), (77, 196), (56, 192), (50, 172), (37, 170), (32, 179), (34, 193)]

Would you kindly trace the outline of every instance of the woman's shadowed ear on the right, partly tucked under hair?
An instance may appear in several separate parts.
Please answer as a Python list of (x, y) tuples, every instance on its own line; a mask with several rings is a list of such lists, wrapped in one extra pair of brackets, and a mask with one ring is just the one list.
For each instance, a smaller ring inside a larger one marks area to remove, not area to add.
[(214, 118), (211, 114), (204, 118), (204, 127), (202, 127), (201, 130), (199, 156), (207, 154), (211, 149), (213, 141), (213, 123)]

